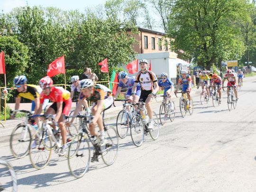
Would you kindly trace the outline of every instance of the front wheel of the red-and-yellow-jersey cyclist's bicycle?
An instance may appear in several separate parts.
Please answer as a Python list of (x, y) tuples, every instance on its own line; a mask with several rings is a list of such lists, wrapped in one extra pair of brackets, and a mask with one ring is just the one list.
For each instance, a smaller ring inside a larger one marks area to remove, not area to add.
[[(43, 133), (44, 130), (39, 129), (37, 132)], [(36, 133), (37, 135), (42, 135), (40, 133)], [(52, 154), (52, 148), (48, 148), (44, 142), (44, 138), (38, 138), (36, 134), (33, 136), (34, 141), (31, 142), (29, 147), (29, 158), (30, 161), (36, 169), (45, 168), (50, 159)], [(45, 134), (45, 132), (44, 132)], [(52, 146), (52, 141), (49, 139), (48, 141), (49, 146)]]

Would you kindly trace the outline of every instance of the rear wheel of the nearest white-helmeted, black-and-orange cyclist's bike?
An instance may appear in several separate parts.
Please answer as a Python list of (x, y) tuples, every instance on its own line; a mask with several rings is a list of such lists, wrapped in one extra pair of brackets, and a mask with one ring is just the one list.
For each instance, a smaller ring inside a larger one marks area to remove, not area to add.
[(109, 125), (106, 127), (105, 137), (106, 137), (107, 143), (104, 149), (103, 150), (101, 149), (102, 151), (101, 156), (102, 156), (103, 162), (106, 165), (110, 166), (117, 159), (118, 148), (119, 148), (118, 134), (114, 126)]

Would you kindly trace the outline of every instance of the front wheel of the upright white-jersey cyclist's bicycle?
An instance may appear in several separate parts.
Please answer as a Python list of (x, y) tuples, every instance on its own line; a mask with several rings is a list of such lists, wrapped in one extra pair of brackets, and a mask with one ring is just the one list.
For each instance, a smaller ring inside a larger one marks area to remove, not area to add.
[(144, 141), (144, 123), (139, 115), (132, 117), (130, 131), (133, 144), (141, 146)]

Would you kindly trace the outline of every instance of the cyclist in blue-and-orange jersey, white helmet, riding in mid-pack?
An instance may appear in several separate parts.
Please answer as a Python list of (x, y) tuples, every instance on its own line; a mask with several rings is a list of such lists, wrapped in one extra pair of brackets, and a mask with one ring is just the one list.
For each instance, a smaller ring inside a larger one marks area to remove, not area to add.
[(189, 100), (189, 108), (192, 108), (191, 96), (190, 96), (192, 79), (189, 75), (187, 75), (186, 70), (182, 70), (181, 75), (182, 75), (182, 77), (179, 78), (175, 93), (178, 92), (180, 86), (182, 85), (182, 92), (187, 92), (187, 96), (188, 96), (188, 100)]

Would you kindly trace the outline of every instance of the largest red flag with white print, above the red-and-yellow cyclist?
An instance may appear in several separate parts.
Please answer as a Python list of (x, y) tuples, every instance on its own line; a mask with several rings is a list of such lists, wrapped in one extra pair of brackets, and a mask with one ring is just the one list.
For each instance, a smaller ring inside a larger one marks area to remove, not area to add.
[(65, 74), (64, 56), (57, 58), (55, 61), (53, 61), (51, 64), (49, 64), (49, 67), (47, 70), (47, 76), (49, 76), (49, 77), (58, 75), (60, 73)]

